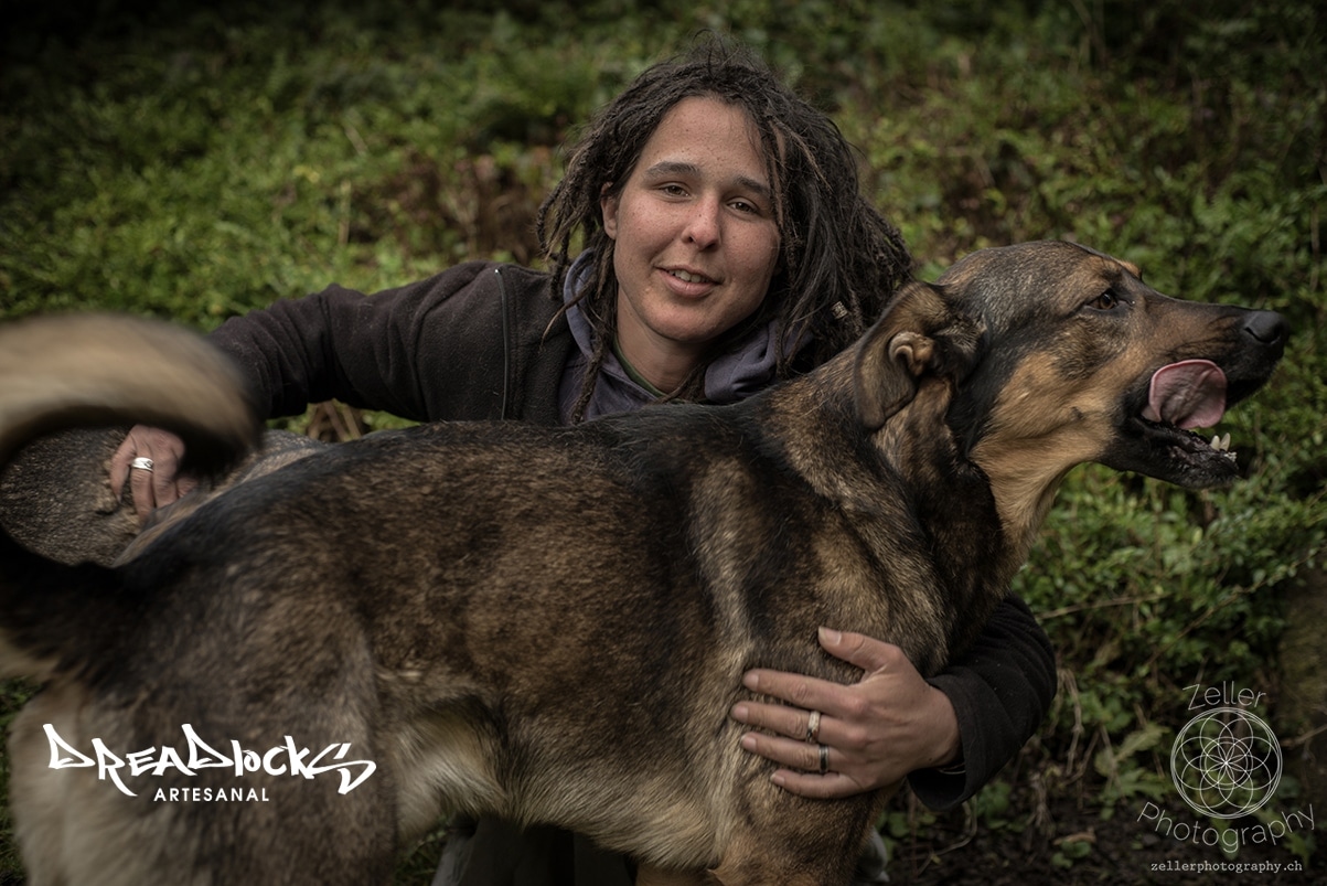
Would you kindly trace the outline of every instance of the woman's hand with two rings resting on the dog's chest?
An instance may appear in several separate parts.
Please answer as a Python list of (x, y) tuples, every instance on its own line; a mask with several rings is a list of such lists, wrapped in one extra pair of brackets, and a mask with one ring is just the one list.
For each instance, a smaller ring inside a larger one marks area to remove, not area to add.
[[(779, 733), (742, 736), (743, 748), (787, 766), (775, 772), (776, 785), (803, 797), (849, 797), (959, 757), (954, 705), (922, 679), (902, 650), (829, 628), (820, 628), (820, 646), (865, 676), (841, 685), (800, 673), (748, 671), (746, 688), (788, 704), (733, 705), (734, 720)], [(821, 745), (828, 749), (824, 774)]]

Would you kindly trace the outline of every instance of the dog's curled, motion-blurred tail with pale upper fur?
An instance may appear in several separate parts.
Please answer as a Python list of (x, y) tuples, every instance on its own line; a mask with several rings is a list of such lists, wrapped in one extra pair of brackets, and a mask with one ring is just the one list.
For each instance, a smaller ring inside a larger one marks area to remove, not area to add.
[[(147, 424), (184, 441), (186, 470), (216, 473), (257, 441), (239, 371), (200, 336), (98, 313), (0, 327), (0, 469), (33, 438), (74, 426)], [(62, 566), (0, 526), (0, 675), (44, 676), (118, 596), (115, 573)]]

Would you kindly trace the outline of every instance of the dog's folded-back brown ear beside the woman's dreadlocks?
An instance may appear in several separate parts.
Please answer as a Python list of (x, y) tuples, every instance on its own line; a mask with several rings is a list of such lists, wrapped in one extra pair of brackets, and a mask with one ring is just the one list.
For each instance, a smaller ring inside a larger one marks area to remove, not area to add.
[(905, 284), (857, 345), (853, 389), (861, 424), (884, 426), (917, 396), (926, 372), (966, 372), (975, 348), (975, 329), (955, 316), (938, 287)]

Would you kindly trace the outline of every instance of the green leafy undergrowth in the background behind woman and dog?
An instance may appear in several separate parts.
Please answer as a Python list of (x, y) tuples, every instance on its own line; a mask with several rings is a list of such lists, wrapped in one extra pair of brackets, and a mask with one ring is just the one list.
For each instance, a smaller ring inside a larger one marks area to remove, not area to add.
[[(1165, 292), (1283, 312), (1283, 368), (1222, 426), (1241, 482), (1068, 478), (1015, 584), (1060, 692), (969, 813), (1024, 833), (1054, 830), (1056, 798), (1109, 816), (1156, 797), (1185, 685), (1277, 685), (1287, 592), (1327, 545), (1315, 3), (93, 5), (25, 5), (3, 37), (0, 316), (111, 308), (207, 329), (332, 282), (537, 262), (559, 145), (705, 29), (831, 110), (926, 279), (974, 248), (1070, 238)], [(882, 820), (892, 840), (937, 821)], [(1089, 853), (1064, 838), (1052, 862)]]

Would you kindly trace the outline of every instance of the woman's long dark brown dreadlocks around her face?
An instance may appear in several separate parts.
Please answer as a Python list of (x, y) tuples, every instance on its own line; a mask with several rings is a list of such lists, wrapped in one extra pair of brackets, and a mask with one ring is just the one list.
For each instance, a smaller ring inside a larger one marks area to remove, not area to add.
[[(555, 298), (561, 296), (577, 235), (594, 256), (575, 298), (594, 345), (573, 421), (584, 417), (617, 325), (613, 239), (600, 209), (605, 185), (608, 195), (621, 191), (660, 121), (691, 97), (718, 98), (746, 112), (759, 133), (780, 236), (768, 294), (715, 343), (711, 359), (776, 320), (776, 377), (819, 365), (865, 332), (912, 270), (898, 230), (860, 194), (856, 155), (833, 121), (747, 49), (722, 40), (702, 43), (685, 57), (646, 69), (594, 116), (568, 157), (565, 177), (540, 206), (539, 242)], [(787, 345), (804, 332), (811, 341), (794, 360)], [(699, 399), (703, 371), (698, 367), (671, 397)]]

